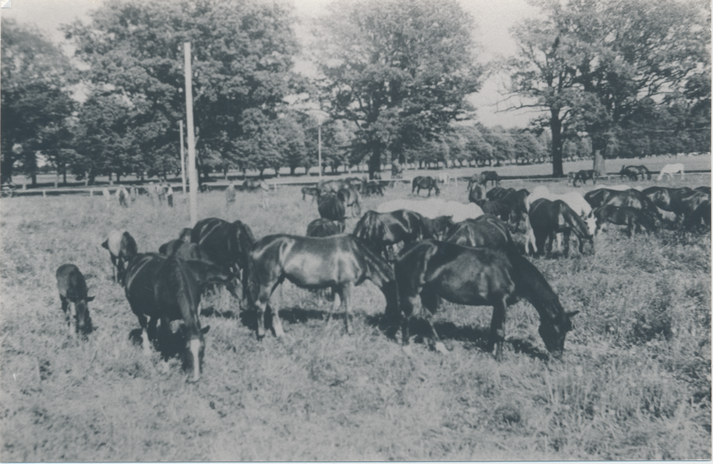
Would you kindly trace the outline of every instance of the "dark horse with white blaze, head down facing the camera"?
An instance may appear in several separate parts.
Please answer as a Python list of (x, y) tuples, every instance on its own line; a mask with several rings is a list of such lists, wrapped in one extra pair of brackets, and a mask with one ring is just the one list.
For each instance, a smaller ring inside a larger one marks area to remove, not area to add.
[(235, 295), (232, 275), (205, 261), (145, 253), (136, 255), (126, 270), (126, 299), (138, 317), (144, 353), (150, 354), (150, 339), (155, 338), (158, 320), (164, 341), (170, 338), (170, 322), (183, 320), (188, 332), (185, 361), (191, 373), (190, 381), (194, 382), (200, 379), (205, 348), (203, 335), (210, 328), (200, 327), (200, 296), (205, 286), (215, 283), (226, 285)]

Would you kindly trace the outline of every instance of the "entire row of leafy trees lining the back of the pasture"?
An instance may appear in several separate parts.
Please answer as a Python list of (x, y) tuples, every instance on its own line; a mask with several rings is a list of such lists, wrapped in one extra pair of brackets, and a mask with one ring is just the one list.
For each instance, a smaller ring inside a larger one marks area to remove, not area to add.
[[(337, 0), (315, 24), (317, 78), (294, 73), (292, 7), (279, 0), (123, 0), (64, 27), (70, 60), (2, 19), (0, 174), (38, 154), (88, 182), (180, 169), (183, 43), (193, 44), (200, 172), (366, 162), (465, 164), (708, 151), (710, 17), (677, 0), (538, 1), (513, 29), (512, 107), (546, 110), (520, 130), (474, 123), (486, 75), (456, 0)], [(707, 48), (708, 47), (708, 48)], [(299, 95), (299, 96), (296, 96)]]

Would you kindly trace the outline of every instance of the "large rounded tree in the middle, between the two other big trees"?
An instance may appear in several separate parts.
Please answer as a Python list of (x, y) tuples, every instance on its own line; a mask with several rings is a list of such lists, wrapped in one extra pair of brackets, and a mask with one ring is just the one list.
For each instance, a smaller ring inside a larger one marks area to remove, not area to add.
[(455, 0), (338, 0), (322, 22), (320, 70), (332, 117), (356, 124), (353, 152), (404, 162), (405, 150), (440, 140), (471, 110), (483, 70), (473, 21)]

